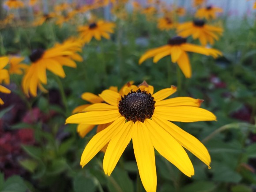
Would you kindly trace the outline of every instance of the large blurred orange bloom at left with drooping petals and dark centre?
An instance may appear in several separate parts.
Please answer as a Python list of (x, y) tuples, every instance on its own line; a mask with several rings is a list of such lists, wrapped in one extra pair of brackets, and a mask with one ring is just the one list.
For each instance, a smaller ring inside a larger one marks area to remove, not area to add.
[(63, 66), (76, 68), (74, 60), (83, 60), (77, 51), (81, 51), (82, 44), (75, 39), (68, 39), (62, 44), (56, 44), (53, 48), (35, 49), (29, 56), (32, 64), (26, 70), (23, 77), (22, 87), (24, 93), (33, 97), (37, 96), (37, 87), (46, 92), (42, 84), (47, 83), (46, 70), (64, 78)]

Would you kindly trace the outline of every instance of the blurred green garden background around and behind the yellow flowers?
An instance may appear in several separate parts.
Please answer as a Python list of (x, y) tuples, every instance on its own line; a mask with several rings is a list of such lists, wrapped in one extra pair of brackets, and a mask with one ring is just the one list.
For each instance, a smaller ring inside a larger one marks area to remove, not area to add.
[[(32, 50), (79, 37), (77, 27), (92, 19), (113, 22), (116, 27), (110, 39), (93, 38), (83, 45), (79, 53), (83, 61), (76, 62), (77, 68), (64, 67), (65, 78), (56, 79), (47, 72), (48, 93), (38, 91), (37, 97), (27, 97), (21, 88), (23, 74), (11, 74), (10, 83), (2, 84), (11, 94), (0, 93), (4, 101), (0, 106), (0, 191), (143, 192), (131, 145), (110, 177), (102, 170), (102, 152), (82, 169), (81, 154), (96, 131), (81, 138), (76, 124), (65, 125), (65, 119), (75, 107), (87, 103), (81, 99), (84, 92), (100, 94), (128, 81), (138, 85), (146, 80), (155, 91), (177, 85), (179, 68), (169, 56), (157, 64), (148, 59), (141, 65), (139, 57), (176, 36), (175, 28), (158, 29), (159, 18), (171, 14), (177, 23), (192, 21), (198, 9), (210, 5), (223, 12), (207, 23), (224, 32), (214, 45), (207, 46), (223, 56), (215, 59), (189, 53), (192, 78), (179, 74), (178, 94), (203, 99), (202, 107), (218, 121), (177, 125), (205, 144), (211, 169), (188, 153), (195, 168), (195, 175), (188, 178), (156, 154), (157, 191), (256, 191), (255, 0), (204, 0), (196, 7), (193, 0), (36, 0), (33, 5), (24, 0), (20, 8), (8, 7), (6, 2), (0, 0), (0, 56), (24, 56), (28, 66)], [(56, 6), (64, 4), (57, 12)], [(84, 6), (83, 11), (79, 9)], [(145, 11), (149, 7), (155, 11)], [(72, 10), (77, 12), (68, 17)], [(52, 12), (56, 13), (53, 18), (36, 23)], [(60, 21), (61, 15), (65, 19)], [(188, 42), (200, 45), (192, 37)]]

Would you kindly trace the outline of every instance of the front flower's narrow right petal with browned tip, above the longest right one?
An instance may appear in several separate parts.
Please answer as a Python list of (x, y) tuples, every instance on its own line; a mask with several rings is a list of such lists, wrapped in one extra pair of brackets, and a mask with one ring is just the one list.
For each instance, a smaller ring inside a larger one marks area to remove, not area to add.
[(194, 106), (200, 107), (203, 100), (190, 97), (177, 97), (162, 100), (155, 103), (155, 106)]

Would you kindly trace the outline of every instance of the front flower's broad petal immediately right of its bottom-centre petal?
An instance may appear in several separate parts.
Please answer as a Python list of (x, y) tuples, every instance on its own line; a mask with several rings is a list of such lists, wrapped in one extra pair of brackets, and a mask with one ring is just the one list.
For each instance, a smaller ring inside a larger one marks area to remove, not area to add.
[(153, 120), (146, 119), (144, 124), (150, 132), (154, 148), (182, 173), (188, 177), (194, 175), (192, 162), (181, 144)]

